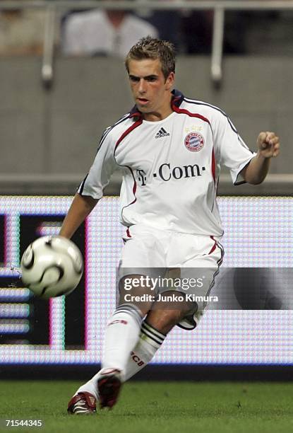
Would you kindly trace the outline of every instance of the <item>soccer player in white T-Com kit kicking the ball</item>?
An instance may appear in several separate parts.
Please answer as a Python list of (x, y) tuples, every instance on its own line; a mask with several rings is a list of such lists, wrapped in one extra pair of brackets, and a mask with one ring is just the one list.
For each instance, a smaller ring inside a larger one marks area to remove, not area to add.
[(223, 255), (216, 202), (220, 166), (229, 168), (235, 185), (258, 184), (280, 149), (274, 132), (261, 132), (257, 152), (251, 152), (225, 112), (174, 90), (169, 42), (141, 39), (128, 52), (126, 70), (136, 105), (104, 131), (60, 232), (71, 238), (113, 171), (122, 169), (120, 301), (107, 325), (102, 369), (68, 403), (73, 414), (95, 412), (97, 401), (112, 408), (121, 383), (150, 362), (174, 325), (196, 327), (205, 302), (160, 304), (160, 295), (184, 290), (150, 287), (140, 277), (164, 270), (182, 279), (190, 270), (205, 269), (205, 282), (194, 293), (208, 295)]

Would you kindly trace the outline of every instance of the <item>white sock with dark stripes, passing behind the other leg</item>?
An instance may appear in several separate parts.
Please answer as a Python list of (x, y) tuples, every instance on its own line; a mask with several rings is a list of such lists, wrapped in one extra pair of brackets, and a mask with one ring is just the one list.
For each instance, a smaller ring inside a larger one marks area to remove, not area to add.
[[(140, 338), (136, 347), (131, 351), (128, 357), (128, 362), (124, 370), (124, 381), (130, 379), (134, 374), (138, 373), (143, 367), (145, 367), (151, 359), (155, 356), (155, 353), (160, 349), (162, 343), (165, 340), (166, 335), (160, 333), (158, 330), (143, 322), (141, 326)], [(101, 371), (101, 370), (100, 370)], [(90, 379), (87, 383), (80, 386), (76, 393), (83, 393), (87, 391), (98, 400), (97, 394), (97, 380), (100, 377), (100, 371)]]

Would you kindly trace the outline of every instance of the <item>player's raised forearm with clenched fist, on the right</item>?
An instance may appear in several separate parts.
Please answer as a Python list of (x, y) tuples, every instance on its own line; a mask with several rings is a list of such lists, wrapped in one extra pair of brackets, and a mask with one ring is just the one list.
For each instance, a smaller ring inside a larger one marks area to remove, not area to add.
[(241, 171), (244, 180), (253, 185), (258, 185), (265, 180), (271, 158), (275, 158), (280, 153), (280, 139), (275, 132), (261, 132), (258, 135), (257, 144), (258, 154)]

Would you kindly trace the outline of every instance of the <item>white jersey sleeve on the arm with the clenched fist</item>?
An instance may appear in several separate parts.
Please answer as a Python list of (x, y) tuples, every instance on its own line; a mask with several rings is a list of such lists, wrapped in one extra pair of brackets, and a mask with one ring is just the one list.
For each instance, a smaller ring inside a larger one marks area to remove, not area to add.
[(237, 129), (229, 117), (219, 115), (215, 132), (216, 154), (220, 157), (220, 165), (229, 168), (234, 185), (245, 183), (239, 179), (241, 170), (256, 156), (239, 136)]

